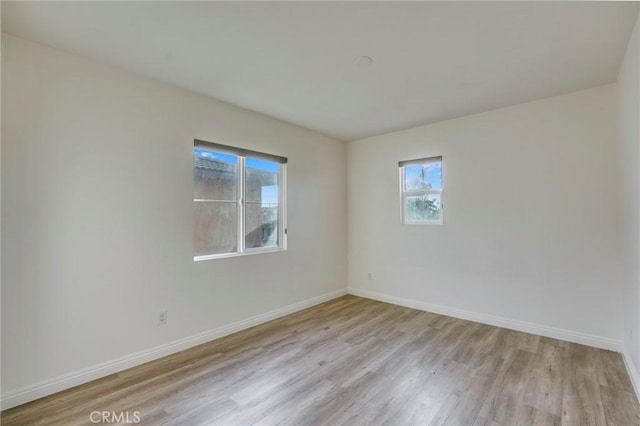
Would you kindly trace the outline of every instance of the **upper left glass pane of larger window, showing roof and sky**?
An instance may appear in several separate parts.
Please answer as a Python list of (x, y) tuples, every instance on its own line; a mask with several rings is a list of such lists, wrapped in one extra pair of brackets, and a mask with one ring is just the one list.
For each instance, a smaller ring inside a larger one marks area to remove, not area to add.
[(229, 200), (237, 197), (238, 157), (202, 148), (193, 149), (194, 199)]

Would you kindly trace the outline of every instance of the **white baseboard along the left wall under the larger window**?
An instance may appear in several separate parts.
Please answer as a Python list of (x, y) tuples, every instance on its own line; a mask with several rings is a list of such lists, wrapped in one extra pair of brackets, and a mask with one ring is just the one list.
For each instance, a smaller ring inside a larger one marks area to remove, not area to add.
[(182, 350), (200, 345), (202, 343), (206, 343), (211, 340), (218, 339), (220, 337), (224, 337), (229, 334), (263, 324), (265, 322), (301, 311), (306, 308), (310, 308), (328, 300), (344, 296), (345, 294), (347, 294), (346, 288), (332, 291), (330, 293), (313, 297), (311, 299), (303, 300), (302, 302), (285, 306), (284, 308), (256, 315), (242, 321), (218, 327), (213, 330), (205, 331), (190, 337), (186, 337), (184, 339), (176, 340), (165, 345), (156, 346), (151, 349), (136, 352), (131, 355), (94, 365), (89, 368), (84, 368), (82, 370), (78, 370), (69, 374), (44, 380), (40, 383), (9, 391), (6, 394), (2, 395), (0, 406), (2, 407), (2, 410), (6, 410), (17, 405), (34, 401), (38, 398), (42, 398), (44, 396), (48, 396), (65, 389), (69, 389), (74, 386), (78, 386), (83, 383), (108, 376), (109, 374), (117, 373), (119, 371), (135, 367), (136, 365), (144, 364), (145, 362), (153, 361), (158, 358), (162, 358), (163, 356), (171, 355), (176, 352), (180, 352)]

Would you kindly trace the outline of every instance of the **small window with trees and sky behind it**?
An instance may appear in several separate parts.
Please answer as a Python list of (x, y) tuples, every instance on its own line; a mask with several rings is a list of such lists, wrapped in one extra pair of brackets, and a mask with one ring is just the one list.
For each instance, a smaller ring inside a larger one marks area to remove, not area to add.
[(442, 157), (401, 161), (400, 209), (404, 224), (442, 224)]

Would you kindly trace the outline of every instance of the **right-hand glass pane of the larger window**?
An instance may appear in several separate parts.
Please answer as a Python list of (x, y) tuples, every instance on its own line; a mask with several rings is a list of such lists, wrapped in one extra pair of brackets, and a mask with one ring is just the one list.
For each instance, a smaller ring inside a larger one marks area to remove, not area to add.
[(280, 164), (247, 158), (245, 161), (245, 247), (278, 246)]

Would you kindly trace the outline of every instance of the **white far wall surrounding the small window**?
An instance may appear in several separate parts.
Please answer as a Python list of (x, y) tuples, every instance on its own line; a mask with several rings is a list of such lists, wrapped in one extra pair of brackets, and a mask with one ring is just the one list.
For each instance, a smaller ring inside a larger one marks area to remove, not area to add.
[[(615, 347), (614, 107), (607, 85), (348, 143), (350, 290)], [(444, 225), (401, 225), (398, 161), (435, 155)]]

